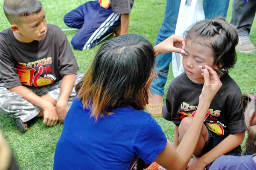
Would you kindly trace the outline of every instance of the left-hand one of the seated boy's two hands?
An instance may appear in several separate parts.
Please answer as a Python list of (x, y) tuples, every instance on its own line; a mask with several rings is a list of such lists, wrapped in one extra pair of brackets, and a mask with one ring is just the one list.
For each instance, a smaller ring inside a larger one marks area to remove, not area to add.
[(58, 115), (52, 103), (47, 101), (45, 103), (45, 106), (42, 107), (42, 110), (43, 110), (43, 124), (50, 127), (55, 126), (58, 121)]

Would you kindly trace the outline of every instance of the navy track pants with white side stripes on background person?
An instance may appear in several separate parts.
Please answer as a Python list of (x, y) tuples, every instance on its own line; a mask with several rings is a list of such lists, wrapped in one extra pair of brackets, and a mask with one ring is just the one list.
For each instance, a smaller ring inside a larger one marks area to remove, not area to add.
[(100, 7), (98, 0), (88, 1), (65, 14), (64, 22), (71, 28), (78, 28), (71, 44), (76, 50), (88, 50), (112, 35), (120, 27), (120, 14), (114, 14), (112, 8)]

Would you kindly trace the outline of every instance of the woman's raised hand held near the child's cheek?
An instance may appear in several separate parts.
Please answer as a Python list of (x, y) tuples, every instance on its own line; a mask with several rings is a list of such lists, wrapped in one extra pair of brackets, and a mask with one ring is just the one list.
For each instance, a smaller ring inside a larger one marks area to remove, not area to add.
[(202, 69), (202, 75), (204, 77), (205, 83), (202, 89), (202, 93), (199, 96), (199, 100), (212, 101), (213, 97), (220, 90), (222, 83), (216, 71), (211, 67), (205, 65), (205, 69)]

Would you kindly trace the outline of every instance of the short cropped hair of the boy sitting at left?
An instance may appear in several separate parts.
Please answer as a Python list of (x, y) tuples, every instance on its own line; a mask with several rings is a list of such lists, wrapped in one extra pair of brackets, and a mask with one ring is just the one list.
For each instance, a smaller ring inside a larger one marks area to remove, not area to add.
[(41, 11), (39, 0), (5, 0), (4, 13), (10, 24), (19, 24), (21, 16), (37, 14)]

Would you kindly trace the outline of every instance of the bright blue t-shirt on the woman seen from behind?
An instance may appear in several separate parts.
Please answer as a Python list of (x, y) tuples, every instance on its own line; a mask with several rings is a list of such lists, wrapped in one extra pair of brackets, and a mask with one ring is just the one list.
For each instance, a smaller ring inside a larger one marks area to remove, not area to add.
[(57, 142), (54, 170), (128, 170), (138, 157), (152, 163), (167, 143), (149, 113), (114, 109), (96, 122), (77, 98)]

